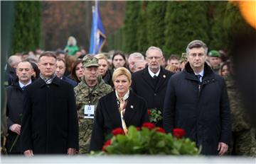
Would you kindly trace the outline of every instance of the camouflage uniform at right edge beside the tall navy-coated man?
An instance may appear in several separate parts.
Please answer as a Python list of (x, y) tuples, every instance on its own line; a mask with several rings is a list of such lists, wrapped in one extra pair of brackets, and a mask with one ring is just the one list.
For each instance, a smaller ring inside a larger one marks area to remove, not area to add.
[(248, 121), (245, 108), (242, 107), (242, 100), (235, 81), (232, 77), (225, 78), (230, 99), (230, 112), (233, 141), (229, 152), (238, 156), (256, 156), (255, 129)]

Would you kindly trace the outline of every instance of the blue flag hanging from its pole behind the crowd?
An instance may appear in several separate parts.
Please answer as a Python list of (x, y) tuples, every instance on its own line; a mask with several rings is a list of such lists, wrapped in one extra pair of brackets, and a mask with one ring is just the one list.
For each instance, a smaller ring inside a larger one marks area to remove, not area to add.
[(95, 1), (95, 6), (92, 6), (92, 29), (90, 37), (90, 54), (101, 52), (102, 47), (106, 42), (105, 30), (100, 18), (100, 8), (98, 2)]

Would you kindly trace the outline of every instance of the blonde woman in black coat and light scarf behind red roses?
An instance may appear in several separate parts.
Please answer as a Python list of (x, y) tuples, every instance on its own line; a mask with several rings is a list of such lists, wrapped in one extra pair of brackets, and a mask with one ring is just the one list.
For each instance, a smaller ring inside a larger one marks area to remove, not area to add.
[(101, 150), (105, 136), (113, 129), (121, 127), (127, 134), (130, 125), (140, 127), (144, 122), (149, 122), (146, 101), (129, 90), (132, 79), (128, 69), (116, 69), (112, 80), (115, 90), (103, 96), (97, 105), (90, 151)]

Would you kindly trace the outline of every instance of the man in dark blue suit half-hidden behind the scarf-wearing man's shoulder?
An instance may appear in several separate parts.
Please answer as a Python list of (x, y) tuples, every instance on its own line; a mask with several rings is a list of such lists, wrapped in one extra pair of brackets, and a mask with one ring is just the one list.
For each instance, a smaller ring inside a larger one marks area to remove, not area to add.
[(65, 82), (70, 83), (74, 88), (76, 86), (78, 86), (78, 83), (76, 81), (73, 81), (70, 78), (67, 78), (67, 77), (64, 76), (65, 69), (66, 69), (65, 60), (62, 59), (62, 58), (57, 58), (56, 64), (57, 64), (57, 68), (55, 70), (55, 73), (58, 76), (58, 78), (60, 78), (61, 80), (65, 81)]

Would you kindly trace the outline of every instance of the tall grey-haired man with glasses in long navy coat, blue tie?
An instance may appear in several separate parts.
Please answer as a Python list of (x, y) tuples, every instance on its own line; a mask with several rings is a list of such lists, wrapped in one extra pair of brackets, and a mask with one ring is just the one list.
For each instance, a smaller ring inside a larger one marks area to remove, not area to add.
[(207, 50), (201, 40), (188, 44), (188, 63), (166, 90), (164, 129), (185, 129), (202, 154), (223, 155), (231, 136), (228, 93), (224, 79), (206, 64)]

